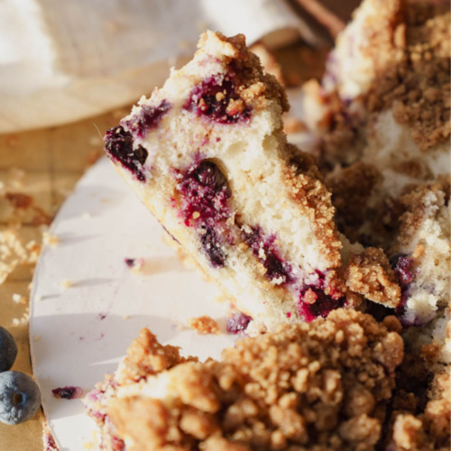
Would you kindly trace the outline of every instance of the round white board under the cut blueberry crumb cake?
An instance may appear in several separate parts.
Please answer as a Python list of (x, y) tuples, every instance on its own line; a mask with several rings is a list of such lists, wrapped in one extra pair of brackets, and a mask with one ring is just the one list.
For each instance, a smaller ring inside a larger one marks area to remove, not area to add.
[[(219, 291), (163, 243), (160, 224), (106, 159), (79, 181), (51, 234), (60, 244), (43, 250), (33, 281), (32, 364), (60, 450), (86, 451), (94, 422), (80, 400), (57, 400), (52, 389), (91, 390), (115, 371), (142, 327), (162, 344), (179, 345), (183, 354), (201, 359), (218, 357), (235, 336), (180, 330), (188, 318), (201, 315), (224, 327), (228, 306), (216, 302)], [(142, 273), (131, 272), (124, 258), (143, 258)], [(64, 289), (64, 281), (72, 286)]]

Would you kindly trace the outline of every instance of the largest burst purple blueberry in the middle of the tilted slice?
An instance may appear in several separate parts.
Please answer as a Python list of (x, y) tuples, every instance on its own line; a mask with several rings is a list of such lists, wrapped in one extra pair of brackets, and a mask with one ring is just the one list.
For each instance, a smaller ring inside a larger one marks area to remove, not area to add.
[(214, 268), (221, 268), (226, 264), (221, 232), (231, 215), (226, 177), (212, 161), (201, 161), (184, 174), (176, 170), (176, 175), (180, 178), (180, 214), (185, 225), (197, 228), (202, 251)]

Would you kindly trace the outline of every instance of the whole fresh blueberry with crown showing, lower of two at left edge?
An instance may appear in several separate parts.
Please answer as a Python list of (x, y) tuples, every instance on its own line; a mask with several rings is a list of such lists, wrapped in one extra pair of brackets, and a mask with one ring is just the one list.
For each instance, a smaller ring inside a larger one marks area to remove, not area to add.
[(41, 391), (27, 374), (16, 371), (0, 373), (0, 421), (20, 424), (41, 406)]

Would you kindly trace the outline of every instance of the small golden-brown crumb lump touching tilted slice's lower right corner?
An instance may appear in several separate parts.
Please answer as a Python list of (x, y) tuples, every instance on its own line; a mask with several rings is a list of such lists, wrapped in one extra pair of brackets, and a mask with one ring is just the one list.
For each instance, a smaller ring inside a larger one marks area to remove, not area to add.
[(368, 247), (354, 255), (345, 268), (345, 283), (350, 290), (386, 307), (395, 308), (400, 303), (400, 285), (382, 249)]

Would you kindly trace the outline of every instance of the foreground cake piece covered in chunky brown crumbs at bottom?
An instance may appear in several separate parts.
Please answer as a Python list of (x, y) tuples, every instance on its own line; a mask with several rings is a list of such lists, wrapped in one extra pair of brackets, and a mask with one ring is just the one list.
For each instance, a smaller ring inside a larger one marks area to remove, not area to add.
[(371, 451), (403, 344), (371, 316), (338, 309), (239, 340), (220, 362), (186, 362), (147, 329), (127, 354), (85, 399), (106, 451)]

